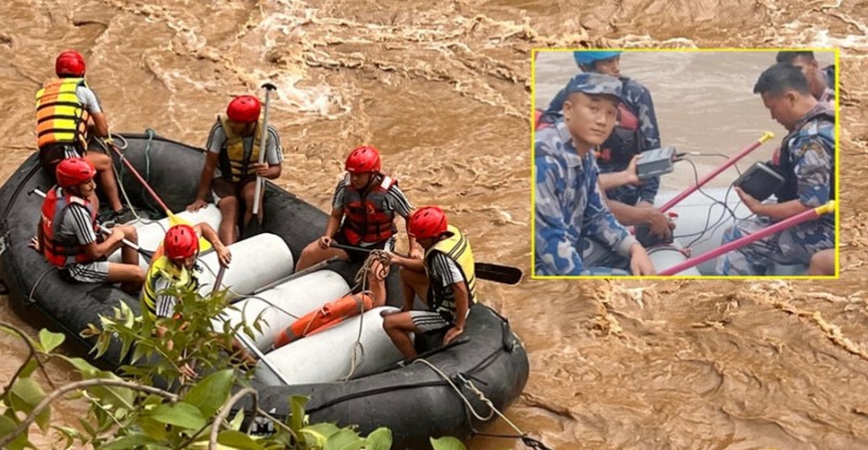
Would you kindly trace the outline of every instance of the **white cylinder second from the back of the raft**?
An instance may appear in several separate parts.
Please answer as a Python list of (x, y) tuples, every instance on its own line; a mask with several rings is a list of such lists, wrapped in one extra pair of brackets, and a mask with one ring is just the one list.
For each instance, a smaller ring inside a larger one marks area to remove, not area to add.
[[(229, 297), (252, 294), (266, 284), (286, 278), (293, 272), (292, 252), (277, 234), (261, 233), (229, 246), (232, 262), (226, 269), (221, 287), (229, 287)], [(208, 294), (220, 270), (217, 252), (199, 258), (202, 274), (200, 293)]]

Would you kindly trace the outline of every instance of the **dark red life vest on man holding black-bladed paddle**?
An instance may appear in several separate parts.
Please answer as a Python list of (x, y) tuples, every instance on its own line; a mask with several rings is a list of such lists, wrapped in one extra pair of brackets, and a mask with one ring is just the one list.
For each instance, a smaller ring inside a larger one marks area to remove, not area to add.
[(341, 232), (352, 245), (360, 242), (383, 242), (398, 232), (394, 222), (395, 211), (385, 208), (388, 190), (397, 183), (397, 180), (383, 176), (379, 185), (362, 193), (347, 181), (344, 188), (344, 223)]

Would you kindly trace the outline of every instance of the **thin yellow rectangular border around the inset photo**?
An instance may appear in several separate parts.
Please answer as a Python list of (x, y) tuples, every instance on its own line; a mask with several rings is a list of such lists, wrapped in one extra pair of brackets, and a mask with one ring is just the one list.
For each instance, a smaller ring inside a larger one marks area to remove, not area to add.
[[(806, 51), (833, 52), (834, 53), (834, 177), (835, 177), (835, 200), (838, 207), (834, 210), (834, 275), (629, 275), (629, 277), (609, 277), (609, 275), (537, 275), (536, 274), (536, 56), (537, 53), (557, 53), (583, 51), (613, 51), (622, 52), (779, 52), (779, 51)], [(841, 50), (837, 48), (710, 48), (710, 49), (583, 49), (583, 48), (554, 48), (554, 49), (531, 49), (531, 279), (532, 280), (838, 280), (841, 278)]]

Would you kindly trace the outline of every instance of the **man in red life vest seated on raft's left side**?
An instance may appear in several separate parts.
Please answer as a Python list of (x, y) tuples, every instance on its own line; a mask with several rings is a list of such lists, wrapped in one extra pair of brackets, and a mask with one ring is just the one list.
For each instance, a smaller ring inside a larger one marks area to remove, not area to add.
[(139, 254), (125, 246), (123, 262), (108, 262), (105, 257), (120, 247), (124, 239), (137, 243), (138, 234), (131, 226), (116, 226), (108, 237), (99, 241), (97, 209), (88, 200), (97, 189), (94, 173), (90, 162), (79, 157), (58, 164), (58, 185), (42, 203), (38, 234), (30, 245), (58, 267), (66, 281), (122, 283), (122, 290), (135, 294), (144, 281)]

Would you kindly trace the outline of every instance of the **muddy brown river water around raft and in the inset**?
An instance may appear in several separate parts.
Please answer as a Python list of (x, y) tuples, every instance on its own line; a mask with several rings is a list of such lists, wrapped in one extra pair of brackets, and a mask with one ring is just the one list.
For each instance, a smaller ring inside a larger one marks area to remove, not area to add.
[[(114, 131), (152, 128), (200, 145), (232, 95), (270, 80), (285, 156), (278, 184), (328, 207), (347, 152), (373, 143), (411, 202), (443, 205), (478, 260), (526, 272), (532, 48), (839, 48), (840, 280), (526, 279), (480, 290), (529, 353), (529, 381), (506, 414), (552, 448), (863, 449), (866, 9), (833, 0), (7, 0), (0, 180), (34, 151), (34, 92), (67, 48), (84, 52)], [(750, 92), (773, 62), (774, 53), (630, 53), (622, 72), (651, 90), (664, 144), (732, 154), (763, 131), (783, 134)], [(537, 104), (575, 72), (569, 54), (541, 55)], [(700, 170), (714, 166), (702, 158)], [(692, 177), (679, 166), (664, 189)], [(35, 334), (7, 301), (0, 320)], [(3, 335), (0, 351), (2, 385), (26, 350)], [(69, 381), (66, 368), (51, 368)], [(55, 420), (85, 410), (65, 403)], [(502, 422), (489, 430), (511, 432)], [(524, 448), (492, 438), (469, 446)]]

